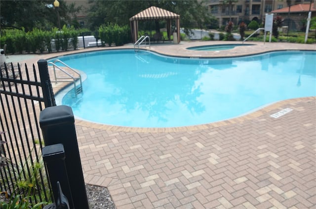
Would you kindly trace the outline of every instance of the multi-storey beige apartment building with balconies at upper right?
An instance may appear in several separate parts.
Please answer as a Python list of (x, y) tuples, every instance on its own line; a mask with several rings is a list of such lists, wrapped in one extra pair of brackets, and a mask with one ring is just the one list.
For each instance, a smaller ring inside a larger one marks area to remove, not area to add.
[(234, 24), (241, 21), (263, 20), (266, 13), (290, 5), (310, 3), (311, 0), (209, 0), (209, 12), (218, 19), (219, 27), (230, 20)]

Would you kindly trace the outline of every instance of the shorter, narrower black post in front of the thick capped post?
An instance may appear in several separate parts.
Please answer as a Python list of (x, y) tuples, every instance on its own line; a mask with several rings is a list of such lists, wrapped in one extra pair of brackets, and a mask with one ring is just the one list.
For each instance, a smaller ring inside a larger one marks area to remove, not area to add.
[[(65, 150), (63, 144), (59, 143), (44, 146), (42, 148), (42, 156), (53, 190), (55, 206), (57, 207), (59, 204), (63, 206), (63, 209), (73, 209), (74, 203), (65, 166)], [(61, 195), (61, 193), (63, 193), (63, 195)]]

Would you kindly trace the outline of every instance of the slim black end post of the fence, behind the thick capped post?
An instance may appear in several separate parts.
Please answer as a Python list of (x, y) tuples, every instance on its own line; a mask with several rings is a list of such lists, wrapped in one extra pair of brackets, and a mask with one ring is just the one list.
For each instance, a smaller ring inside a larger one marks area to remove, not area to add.
[(40, 85), (43, 92), (45, 107), (56, 106), (53, 88), (49, 79), (47, 61), (40, 59), (38, 61), (38, 66), (40, 71)]

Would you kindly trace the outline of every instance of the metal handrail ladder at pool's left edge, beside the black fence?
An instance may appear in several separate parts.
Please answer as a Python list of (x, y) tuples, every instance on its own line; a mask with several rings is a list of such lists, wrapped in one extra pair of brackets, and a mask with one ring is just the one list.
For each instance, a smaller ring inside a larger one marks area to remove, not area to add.
[[(57, 66), (55, 63), (61, 63), (64, 67), (66, 67), (70, 71), (74, 72), (75, 74), (78, 74), (78, 76), (74, 76), (74, 75), (70, 74), (66, 70), (64, 70), (61, 67)], [(80, 75), (80, 73), (77, 70), (71, 68), (70, 66), (68, 66), (67, 64), (65, 64), (64, 62), (62, 62), (60, 60), (55, 60), (54, 62), (48, 62), (47, 65), (52, 65), (53, 69), (54, 69), (55, 80), (52, 80), (51, 82), (56, 82), (56, 83), (57, 82), (71, 82), (71, 83), (73, 83), (76, 98), (77, 98), (78, 94), (83, 93), (83, 91), (82, 91), (81, 75)], [(67, 76), (66, 77), (57, 77), (56, 76), (56, 68), (58, 70), (62, 71)], [(58, 79), (62, 79), (62, 80), (58, 80)], [(67, 80), (65, 80), (65, 79), (67, 79)]]

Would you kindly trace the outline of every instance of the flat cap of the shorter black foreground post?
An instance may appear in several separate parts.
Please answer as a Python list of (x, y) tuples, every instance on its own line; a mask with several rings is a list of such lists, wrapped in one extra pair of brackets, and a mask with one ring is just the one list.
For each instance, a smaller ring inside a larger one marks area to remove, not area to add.
[(44, 146), (41, 152), (42, 152), (43, 160), (46, 163), (65, 159), (64, 145), (61, 143)]

